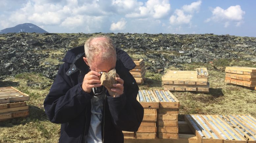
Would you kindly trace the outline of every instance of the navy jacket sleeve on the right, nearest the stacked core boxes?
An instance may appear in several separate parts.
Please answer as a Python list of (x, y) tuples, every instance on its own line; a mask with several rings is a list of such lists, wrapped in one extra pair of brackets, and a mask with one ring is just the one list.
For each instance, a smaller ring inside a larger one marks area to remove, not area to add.
[(107, 101), (114, 125), (122, 131), (136, 132), (142, 122), (144, 109), (136, 100), (139, 90), (137, 83), (129, 72), (126, 75), (124, 94), (117, 98), (107, 96)]

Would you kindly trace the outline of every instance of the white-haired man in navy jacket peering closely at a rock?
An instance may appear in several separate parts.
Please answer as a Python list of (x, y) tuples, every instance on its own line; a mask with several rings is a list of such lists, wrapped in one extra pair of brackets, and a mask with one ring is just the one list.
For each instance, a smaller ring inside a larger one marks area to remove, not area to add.
[[(138, 130), (144, 110), (129, 73), (135, 64), (125, 51), (99, 36), (69, 50), (63, 61), (43, 104), (49, 120), (61, 123), (59, 142), (122, 143), (122, 131)], [(100, 72), (114, 68), (117, 84), (103, 87)]]

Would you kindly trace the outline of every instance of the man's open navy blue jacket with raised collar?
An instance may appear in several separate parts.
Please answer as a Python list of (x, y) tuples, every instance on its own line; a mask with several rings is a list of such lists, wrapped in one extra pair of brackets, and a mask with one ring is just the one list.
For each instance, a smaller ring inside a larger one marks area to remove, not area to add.
[[(136, 132), (144, 110), (136, 100), (138, 85), (129, 70), (135, 67), (129, 55), (116, 49), (116, 72), (124, 80), (124, 94), (104, 100), (101, 134), (104, 143), (122, 143), (122, 131)], [(61, 124), (59, 142), (85, 143), (91, 120), (90, 94), (81, 88), (89, 68), (83, 61), (84, 46), (69, 50), (63, 59), (49, 94), (44, 100), (45, 113), (53, 123)]]

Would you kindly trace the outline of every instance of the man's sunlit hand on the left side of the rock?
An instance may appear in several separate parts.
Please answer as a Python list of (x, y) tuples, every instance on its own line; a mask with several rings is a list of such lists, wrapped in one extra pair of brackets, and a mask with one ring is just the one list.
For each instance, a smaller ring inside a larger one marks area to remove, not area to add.
[(91, 93), (92, 88), (94, 87), (100, 87), (101, 86), (101, 82), (100, 82), (100, 73), (96, 72), (96, 71), (90, 71), (89, 73), (87, 73), (84, 76), (84, 81), (82, 84), (82, 89), (86, 92), (86, 93)]

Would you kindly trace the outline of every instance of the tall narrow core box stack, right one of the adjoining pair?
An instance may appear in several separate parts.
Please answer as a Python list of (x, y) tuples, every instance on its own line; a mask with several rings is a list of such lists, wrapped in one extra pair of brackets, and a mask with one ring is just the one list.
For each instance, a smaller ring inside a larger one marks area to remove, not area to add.
[(157, 137), (178, 139), (179, 100), (168, 90), (154, 90), (153, 92), (159, 102)]

